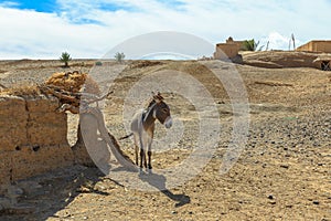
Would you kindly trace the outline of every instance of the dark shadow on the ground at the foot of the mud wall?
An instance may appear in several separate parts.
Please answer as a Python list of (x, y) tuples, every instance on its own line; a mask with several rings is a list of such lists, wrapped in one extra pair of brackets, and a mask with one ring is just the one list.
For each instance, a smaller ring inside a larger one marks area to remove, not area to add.
[[(10, 200), (12, 204), (8, 208), (3, 210), (0, 208), (0, 220), (42, 221), (50, 218), (66, 219), (57, 217), (56, 212), (66, 208), (78, 194), (109, 194), (95, 188), (95, 185), (103, 180), (104, 177), (105, 175), (96, 167), (76, 165), (70, 168), (57, 169), (46, 175), (20, 180), (12, 183), (11, 187), (23, 193), (14, 200)], [(70, 219), (70, 215), (67, 219)]]

